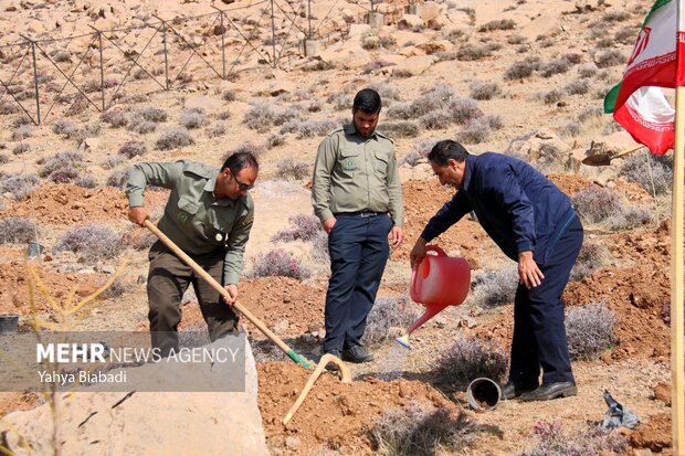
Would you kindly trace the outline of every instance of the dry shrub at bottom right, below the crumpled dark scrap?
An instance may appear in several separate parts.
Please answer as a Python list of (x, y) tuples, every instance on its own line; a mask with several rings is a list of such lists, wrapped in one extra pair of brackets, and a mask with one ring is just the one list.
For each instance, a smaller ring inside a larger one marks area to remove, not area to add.
[(618, 432), (602, 431), (599, 426), (588, 431), (565, 433), (558, 422), (539, 421), (533, 433), (538, 444), (521, 456), (588, 456), (601, 454), (624, 454), (628, 449), (625, 437)]

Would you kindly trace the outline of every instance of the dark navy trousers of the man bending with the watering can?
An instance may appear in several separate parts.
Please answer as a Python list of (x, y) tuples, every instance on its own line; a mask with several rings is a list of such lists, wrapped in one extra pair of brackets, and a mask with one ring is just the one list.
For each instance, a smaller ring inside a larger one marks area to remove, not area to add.
[(547, 252), (542, 283), (531, 289), (518, 286), (514, 303), (514, 340), (509, 380), (517, 384), (573, 380), (569, 359), (561, 294), (582, 245), (578, 216)]

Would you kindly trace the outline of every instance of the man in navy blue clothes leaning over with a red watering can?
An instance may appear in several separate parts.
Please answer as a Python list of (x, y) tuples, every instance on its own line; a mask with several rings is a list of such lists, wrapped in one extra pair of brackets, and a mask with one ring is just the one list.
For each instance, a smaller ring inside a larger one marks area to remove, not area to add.
[(518, 263), (512, 364), (503, 396), (546, 401), (575, 395), (561, 294), (582, 245), (582, 225), (569, 198), (531, 166), (505, 155), (472, 156), (459, 142), (444, 140), (428, 159), (440, 183), (457, 191), (425, 225), (410, 254), (412, 266), (425, 256), (426, 243), (474, 211), (493, 241)]

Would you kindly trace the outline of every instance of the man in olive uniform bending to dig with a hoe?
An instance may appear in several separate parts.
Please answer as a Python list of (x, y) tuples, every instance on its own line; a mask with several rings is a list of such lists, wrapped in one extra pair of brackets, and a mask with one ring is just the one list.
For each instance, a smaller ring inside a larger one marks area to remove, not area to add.
[(129, 171), (126, 195), (128, 219), (144, 225), (149, 212), (144, 206), (146, 185), (171, 190), (159, 230), (194, 259), (231, 299), (221, 299), (201, 277), (157, 241), (150, 247), (148, 300), (152, 347), (162, 357), (178, 350), (181, 298), (192, 283), (212, 341), (236, 329), (232, 304), (238, 298), (238, 277), (254, 219), (247, 193), (257, 178), (259, 163), (249, 152), (234, 153), (220, 170), (179, 160), (172, 163), (139, 163)]

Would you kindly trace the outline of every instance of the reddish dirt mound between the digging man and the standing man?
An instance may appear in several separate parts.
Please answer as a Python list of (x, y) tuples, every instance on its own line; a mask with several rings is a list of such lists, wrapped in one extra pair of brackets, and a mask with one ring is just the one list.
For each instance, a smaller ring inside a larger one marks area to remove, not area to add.
[[(299, 336), (324, 327), (325, 287), (312, 286), (288, 277), (259, 277), (240, 283), (240, 303), (281, 336)], [(261, 332), (245, 318), (250, 333)], [(180, 329), (203, 324), (198, 306), (183, 307)]]

